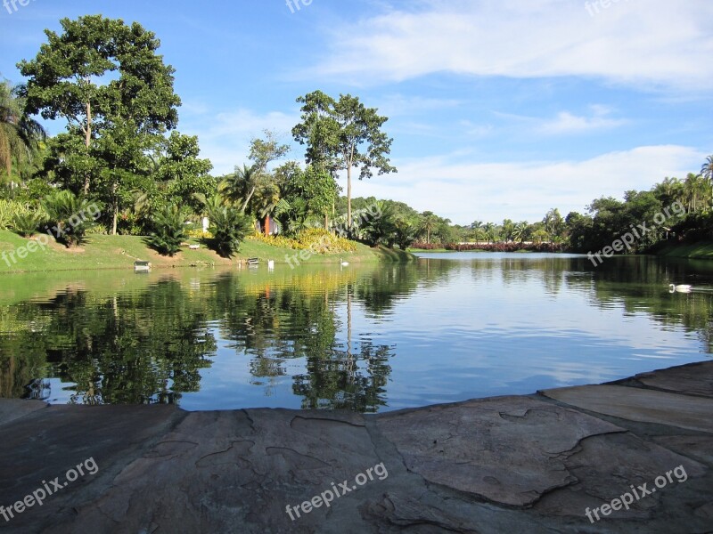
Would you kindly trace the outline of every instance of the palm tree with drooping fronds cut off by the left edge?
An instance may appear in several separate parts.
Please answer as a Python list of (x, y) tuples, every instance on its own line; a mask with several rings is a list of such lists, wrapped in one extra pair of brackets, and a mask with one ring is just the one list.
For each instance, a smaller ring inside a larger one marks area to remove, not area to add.
[(8, 178), (12, 176), (13, 161), (31, 161), (46, 137), (42, 125), (24, 112), (17, 88), (7, 81), (0, 82), (0, 166), (4, 166)]

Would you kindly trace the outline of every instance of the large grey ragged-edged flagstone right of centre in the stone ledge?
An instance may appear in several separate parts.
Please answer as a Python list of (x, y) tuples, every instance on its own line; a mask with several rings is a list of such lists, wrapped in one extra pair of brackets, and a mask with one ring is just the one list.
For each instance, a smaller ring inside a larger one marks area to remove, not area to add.
[(575, 482), (563, 459), (582, 439), (624, 432), (575, 410), (522, 397), (396, 412), (379, 417), (379, 424), (409, 470), (512, 506), (532, 504), (546, 491)]

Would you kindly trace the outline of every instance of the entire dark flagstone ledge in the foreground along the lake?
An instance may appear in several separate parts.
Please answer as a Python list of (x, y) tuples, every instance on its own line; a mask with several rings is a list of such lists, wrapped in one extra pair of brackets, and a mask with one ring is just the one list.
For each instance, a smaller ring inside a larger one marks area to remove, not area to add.
[(52, 494), (0, 530), (713, 532), (712, 415), (713, 362), (368, 416), (2, 400), (4, 514)]

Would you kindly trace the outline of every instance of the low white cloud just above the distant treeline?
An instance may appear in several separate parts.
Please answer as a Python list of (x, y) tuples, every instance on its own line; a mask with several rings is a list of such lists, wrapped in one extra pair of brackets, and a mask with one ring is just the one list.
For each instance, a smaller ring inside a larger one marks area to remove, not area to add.
[[(622, 198), (625, 190), (649, 190), (667, 176), (683, 178), (705, 154), (664, 145), (611, 152), (582, 161), (454, 163), (457, 155), (396, 161), (397, 174), (354, 182), (356, 197), (401, 200), (454, 223), (540, 220), (552, 207), (563, 215), (584, 212), (594, 198)], [(342, 183), (342, 185), (344, 185)]]

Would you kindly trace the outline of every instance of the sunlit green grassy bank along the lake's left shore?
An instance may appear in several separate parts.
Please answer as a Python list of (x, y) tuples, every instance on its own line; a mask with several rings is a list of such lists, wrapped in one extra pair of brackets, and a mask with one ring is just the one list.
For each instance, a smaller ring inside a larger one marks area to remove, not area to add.
[[(34, 244), (32, 243), (34, 241)], [(192, 244), (198, 241), (190, 240)], [(31, 251), (35, 248), (34, 251)], [(24, 251), (24, 253), (22, 252)], [(4, 253), (4, 255), (2, 255)], [(24, 255), (24, 257), (20, 257)], [(233, 258), (223, 258), (201, 245), (198, 250), (184, 247), (173, 257), (160, 255), (148, 247), (145, 239), (137, 236), (89, 235), (79, 247), (67, 248), (50, 239), (40, 247), (34, 239), (21, 238), (11, 231), (0, 231), (0, 272), (75, 271), (89, 269), (133, 269), (135, 260), (146, 260), (154, 268), (188, 267), (201, 265), (231, 265), (239, 260), (257, 257), (261, 262), (313, 264), (378, 261), (408, 261), (414, 256), (403, 251), (386, 248), (370, 248), (357, 244), (356, 252), (337, 255), (311, 255), (303, 260), (299, 251), (291, 248), (273, 247), (266, 243), (246, 239), (240, 252)]]

